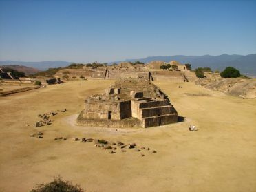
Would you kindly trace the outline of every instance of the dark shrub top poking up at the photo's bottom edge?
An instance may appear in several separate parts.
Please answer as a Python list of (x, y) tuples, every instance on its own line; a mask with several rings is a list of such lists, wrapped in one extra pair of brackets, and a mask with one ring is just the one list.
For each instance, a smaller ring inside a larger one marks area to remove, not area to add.
[(46, 184), (36, 184), (36, 187), (30, 192), (83, 192), (79, 185), (73, 185), (69, 181), (62, 180), (60, 176), (54, 178), (54, 181)]

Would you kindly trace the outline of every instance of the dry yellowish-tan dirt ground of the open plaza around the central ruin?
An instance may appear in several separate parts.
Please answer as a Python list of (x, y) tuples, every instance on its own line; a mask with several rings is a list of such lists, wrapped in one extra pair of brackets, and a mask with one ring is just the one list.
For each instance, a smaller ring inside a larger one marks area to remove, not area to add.
[[(112, 82), (72, 81), (1, 97), (0, 191), (29, 191), (57, 175), (87, 191), (256, 191), (256, 100), (155, 81), (186, 121), (118, 131), (74, 126), (85, 97)], [(64, 108), (52, 125), (33, 127), (38, 114)], [(198, 131), (190, 132), (193, 123)], [(43, 138), (30, 137), (38, 131)], [(109, 154), (73, 137), (136, 142), (157, 153)]]

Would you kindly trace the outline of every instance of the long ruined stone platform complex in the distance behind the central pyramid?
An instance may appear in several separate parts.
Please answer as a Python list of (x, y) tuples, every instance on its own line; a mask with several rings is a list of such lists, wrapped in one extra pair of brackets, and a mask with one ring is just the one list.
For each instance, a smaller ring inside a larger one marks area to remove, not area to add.
[(99, 79), (118, 79), (118, 78), (142, 78), (146, 80), (169, 80), (169, 81), (192, 81), (195, 74), (186, 68), (186, 65), (178, 61), (170, 61), (170, 65), (176, 65), (177, 71), (161, 70), (161, 65), (167, 65), (164, 61), (151, 61), (148, 65), (121, 62), (116, 66), (97, 67), (96, 69), (84, 67), (83, 69), (63, 69), (56, 73), (56, 78), (68, 75), (70, 78), (99, 78)]

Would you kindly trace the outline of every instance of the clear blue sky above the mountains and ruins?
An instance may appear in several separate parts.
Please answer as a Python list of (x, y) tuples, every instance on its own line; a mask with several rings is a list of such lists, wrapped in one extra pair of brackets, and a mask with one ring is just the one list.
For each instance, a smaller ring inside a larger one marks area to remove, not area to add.
[(256, 1), (1, 1), (0, 60), (256, 53)]

